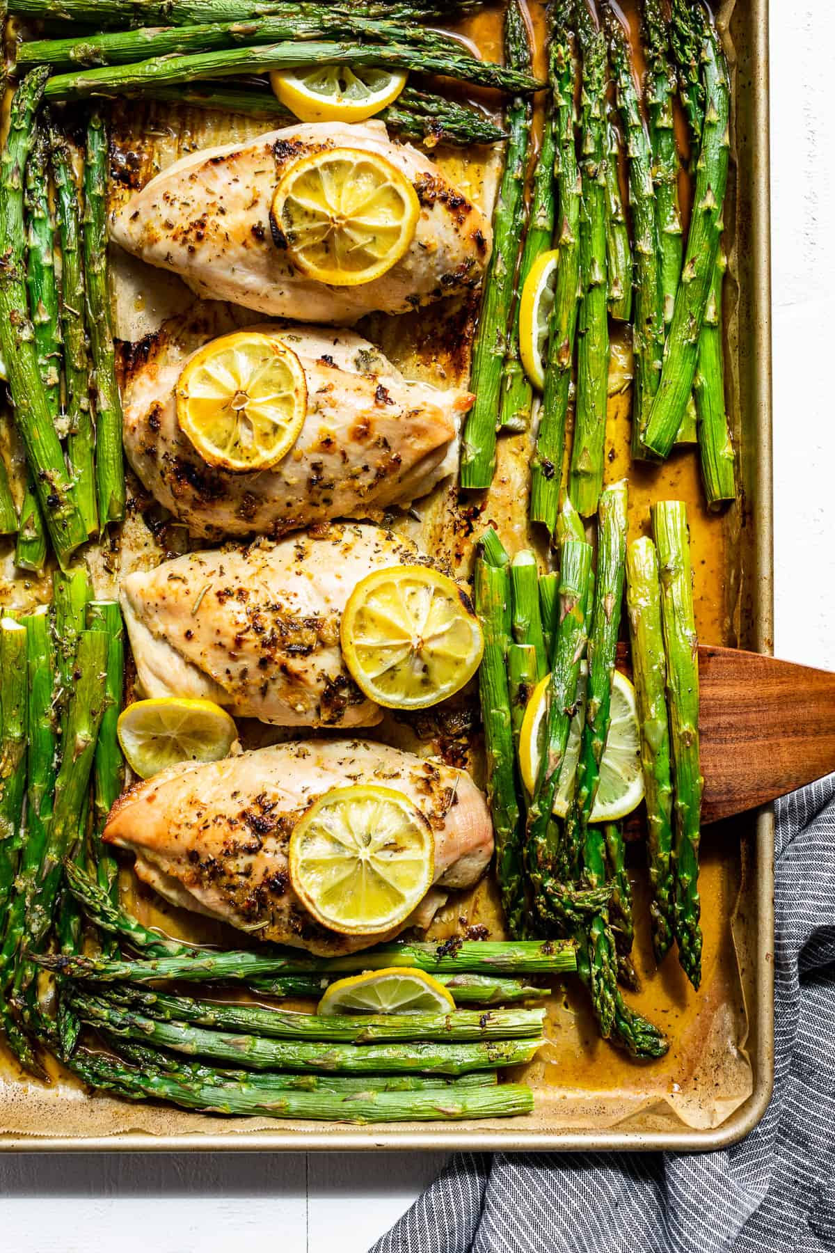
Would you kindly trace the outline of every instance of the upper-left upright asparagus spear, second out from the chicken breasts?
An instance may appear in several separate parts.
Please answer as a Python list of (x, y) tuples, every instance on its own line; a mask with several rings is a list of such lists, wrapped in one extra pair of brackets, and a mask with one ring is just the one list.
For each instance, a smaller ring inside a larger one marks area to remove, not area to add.
[(53, 178), (58, 224), (61, 237), (61, 327), (64, 331), (66, 415), (69, 430), (66, 455), (75, 479), (75, 495), (88, 535), (99, 529), (96, 504), (93, 415), (90, 413), (90, 368), (84, 331), (84, 269), (81, 267), (80, 188), (73, 169), (73, 155), (64, 137), (50, 133)]

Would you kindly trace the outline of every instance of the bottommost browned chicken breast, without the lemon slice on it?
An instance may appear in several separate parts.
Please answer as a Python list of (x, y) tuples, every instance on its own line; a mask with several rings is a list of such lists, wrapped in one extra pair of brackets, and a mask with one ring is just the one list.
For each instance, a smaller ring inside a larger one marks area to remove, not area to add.
[[(312, 739), (210, 766), (174, 766), (125, 792), (104, 838), (135, 852), (139, 878), (174, 905), (259, 940), (323, 955), (354, 952), (397, 931), (343, 936), (319, 926), (293, 892), (287, 853), (304, 811), (330, 788), (356, 782), (394, 788), (423, 813), (434, 832), (438, 888), (469, 887), (483, 873), (493, 832), (469, 776), (371, 741)], [(437, 908), (446, 895), (433, 891), (429, 898)]]

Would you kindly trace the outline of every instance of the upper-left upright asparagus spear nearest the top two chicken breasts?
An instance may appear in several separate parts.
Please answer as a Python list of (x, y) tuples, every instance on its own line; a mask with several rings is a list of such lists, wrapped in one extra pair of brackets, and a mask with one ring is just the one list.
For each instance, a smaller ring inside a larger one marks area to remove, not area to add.
[(108, 135), (101, 114), (90, 117), (84, 164), (84, 269), (86, 316), (95, 380), (95, 481), (99, 526), (125, 516), (121, 397), (116, 382), (108, 279)]

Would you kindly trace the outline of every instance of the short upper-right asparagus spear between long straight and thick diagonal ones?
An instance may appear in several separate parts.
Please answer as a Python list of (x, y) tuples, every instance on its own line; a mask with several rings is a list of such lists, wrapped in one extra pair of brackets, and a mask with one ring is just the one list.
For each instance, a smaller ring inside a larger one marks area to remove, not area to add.
[(641, 16), (648, 65), (647, 104), (655, 180), (655, 216), (661, 258), (663, 322), (669, 327), (672, 322), (684, 258), (684, 231), (679, 204), (681, 163), (672, 113), (676, 73), (671, 60), (670, 29), (663, 18), (661, 0), (642, 0)]

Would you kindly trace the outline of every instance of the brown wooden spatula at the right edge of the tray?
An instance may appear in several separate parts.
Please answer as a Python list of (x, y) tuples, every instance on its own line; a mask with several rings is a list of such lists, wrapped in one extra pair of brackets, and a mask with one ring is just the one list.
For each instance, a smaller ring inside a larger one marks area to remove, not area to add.
[(699, 677), (704, 822), (835, 771), (835, 674), (702, 645)]

